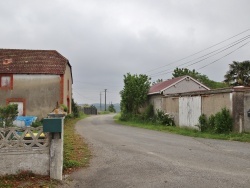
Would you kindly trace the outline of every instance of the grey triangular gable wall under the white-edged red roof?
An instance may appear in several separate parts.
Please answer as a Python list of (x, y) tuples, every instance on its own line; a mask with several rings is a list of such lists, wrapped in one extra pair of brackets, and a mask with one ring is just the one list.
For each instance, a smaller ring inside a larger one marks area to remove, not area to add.
[(189, 91), (202, 91), (202, 90), (206, 89), (201, 85), (197, 84), (196, 82), (194, 82), (193, 80), (189, 79), (189, 80), (182, 80), (181, 82), (163, 91), (163, 95), (173, 94), (173, 93), (183, 93)]

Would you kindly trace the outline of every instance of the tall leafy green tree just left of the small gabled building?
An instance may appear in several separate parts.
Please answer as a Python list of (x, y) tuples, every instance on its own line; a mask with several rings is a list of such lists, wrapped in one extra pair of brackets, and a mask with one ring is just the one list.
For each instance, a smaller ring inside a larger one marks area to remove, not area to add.
[(150, 78), (147, 75), (137, 74), (124, 75), (124, 87), (120, 92), (121, 111), (125, 114), (136, 115), (139, 108), (142, 107), (146, 100), (150, 88)]

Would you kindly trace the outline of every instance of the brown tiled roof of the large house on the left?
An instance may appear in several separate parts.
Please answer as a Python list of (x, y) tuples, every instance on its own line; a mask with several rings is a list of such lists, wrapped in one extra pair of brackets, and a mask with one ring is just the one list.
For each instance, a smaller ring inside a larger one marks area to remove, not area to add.
[(0, 73), (64, 74), (67, 64), (55, 50), (0, 49)]

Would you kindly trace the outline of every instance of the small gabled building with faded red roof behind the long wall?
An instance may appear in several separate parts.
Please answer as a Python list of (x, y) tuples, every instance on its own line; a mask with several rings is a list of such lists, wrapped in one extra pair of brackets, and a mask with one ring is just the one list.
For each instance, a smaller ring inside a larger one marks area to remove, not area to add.
[(191, 76), (181, 76), (153, 85), (148, 92), (149, 103), (155, 110), (163, 110), (163, 96), (203, 90), (210, 89)]

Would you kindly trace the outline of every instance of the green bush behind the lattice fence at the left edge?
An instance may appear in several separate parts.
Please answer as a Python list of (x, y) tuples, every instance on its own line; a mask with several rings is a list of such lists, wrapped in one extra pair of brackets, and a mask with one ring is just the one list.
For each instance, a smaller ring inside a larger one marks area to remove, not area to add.
[(0, 127), (11, 127), (13, 121), (18, 115), (17, 104), (9, 104), (4, 107), (0, 107)]

